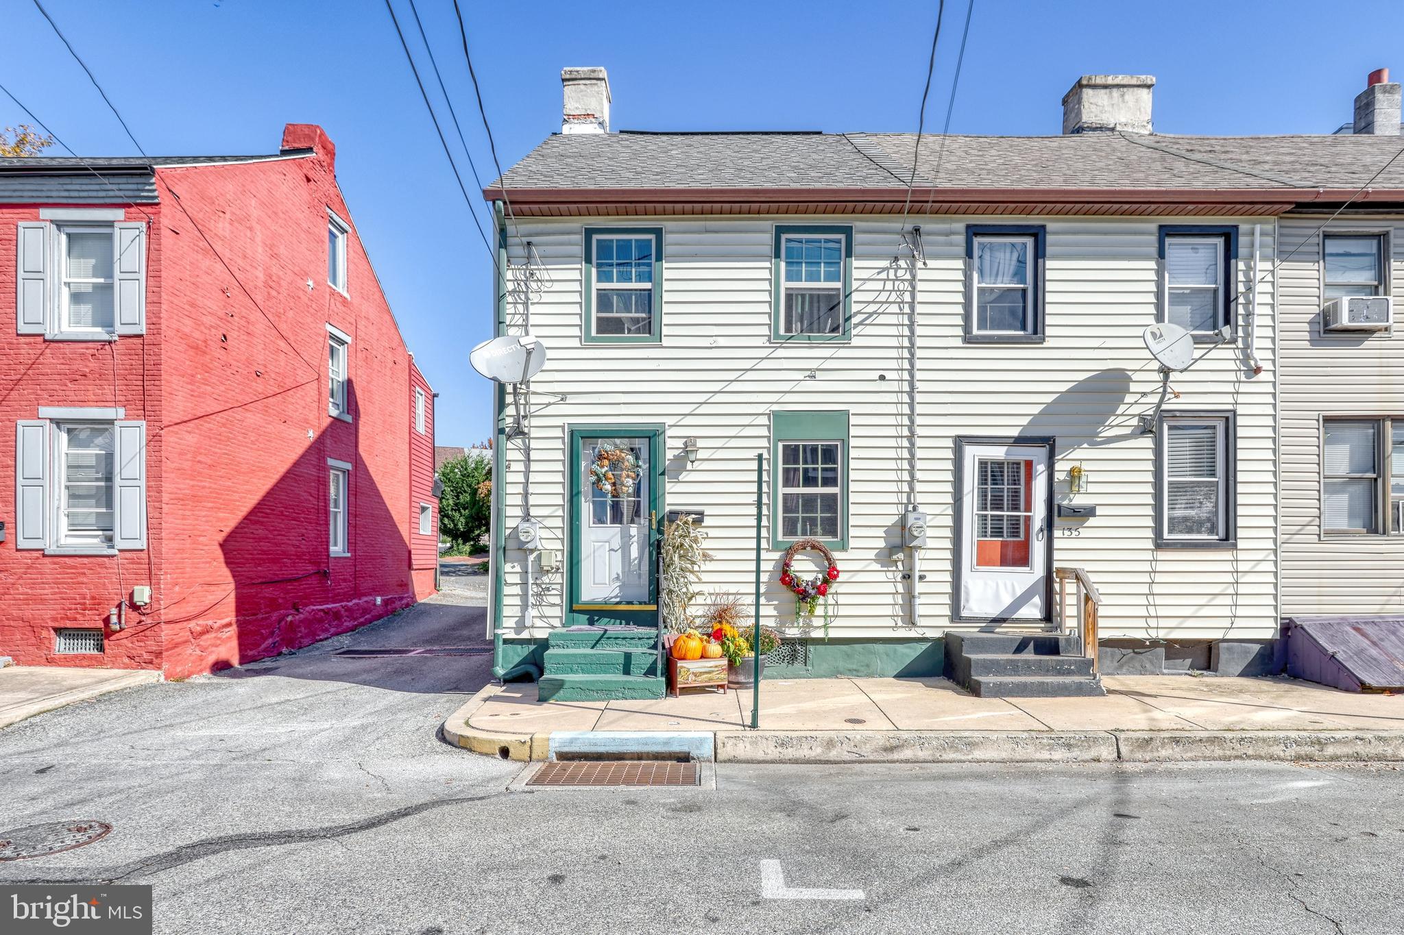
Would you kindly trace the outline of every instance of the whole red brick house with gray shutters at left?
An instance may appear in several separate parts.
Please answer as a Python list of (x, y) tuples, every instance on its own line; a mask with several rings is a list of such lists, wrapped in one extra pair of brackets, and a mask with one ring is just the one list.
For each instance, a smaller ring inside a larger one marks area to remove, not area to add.
[(0, 655), (181, 677), (432, 593), (434, 394), (334, 160), (0, 160)]

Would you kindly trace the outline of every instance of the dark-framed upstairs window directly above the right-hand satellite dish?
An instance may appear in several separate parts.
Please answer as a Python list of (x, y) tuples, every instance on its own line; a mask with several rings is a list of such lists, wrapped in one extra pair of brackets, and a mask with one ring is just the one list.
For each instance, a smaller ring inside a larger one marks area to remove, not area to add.
[(1233, 327), (1238, 228), (1167, 224), (1160, 228), (1160, 320), (1196, 341)]

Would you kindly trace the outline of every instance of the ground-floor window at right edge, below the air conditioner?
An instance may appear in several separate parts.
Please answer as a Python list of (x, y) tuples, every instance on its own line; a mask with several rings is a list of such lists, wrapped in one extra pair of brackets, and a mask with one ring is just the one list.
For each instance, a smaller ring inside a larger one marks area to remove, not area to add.
[(1321, 533), (1404, 534), (1404, 416), (1323, 419)]

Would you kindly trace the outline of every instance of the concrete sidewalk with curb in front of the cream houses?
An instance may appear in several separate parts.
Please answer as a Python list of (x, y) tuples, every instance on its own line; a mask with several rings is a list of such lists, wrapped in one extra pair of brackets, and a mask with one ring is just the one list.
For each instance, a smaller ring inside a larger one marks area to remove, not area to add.
[[(591, 749), (712, 735), (734, 761), (1404, 760), (1404, 697), (1290, 678), (1109, 676), (1104, 698), (976, 698), (945, 678), (796, 678), (751, 692), (657, 701), (539, 702), (536, 687), (489, 685), (451, 716), (451, 743), (545, 760), (566, 739)], [(633, 736), (630, 736), (633, 735)]]

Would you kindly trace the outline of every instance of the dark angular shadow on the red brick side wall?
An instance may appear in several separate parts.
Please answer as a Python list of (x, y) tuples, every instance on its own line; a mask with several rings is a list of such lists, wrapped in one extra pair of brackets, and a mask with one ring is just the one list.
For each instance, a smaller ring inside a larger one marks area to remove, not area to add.
[[(333, 422), (274, 481), (220, 541), (233, 580), (233, 620), (187, 624), (190, 656), (181, 669), (211, 671), (299, 649), (414, 603), (409, 542), (400, 509), (386, 503), (361, 457), (355, 387), (347, 384), (350, 423)], [(250, 458), (253, 447), (250, 447)], [(350, 555), (329, 550), (331, 465), (350, 464), (344, 499)], [(240, 470), (230, 465), (230, 472)], [(246, 468), (256, 472), (256, 463)], [(218, 488), (218, 481), (211, 485)], [(376, 603), (379, 599), (379, 603)], [(222, 604), (227, 607), (227, 603)], [(204, 629), (204, 632), (202, 632)]]

